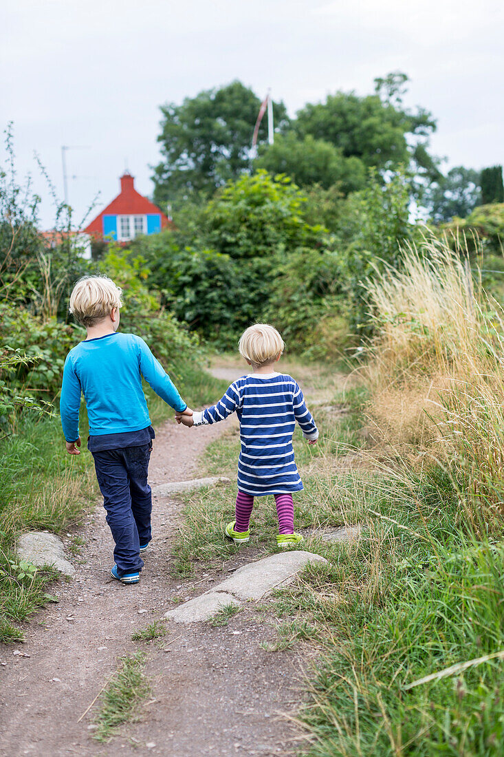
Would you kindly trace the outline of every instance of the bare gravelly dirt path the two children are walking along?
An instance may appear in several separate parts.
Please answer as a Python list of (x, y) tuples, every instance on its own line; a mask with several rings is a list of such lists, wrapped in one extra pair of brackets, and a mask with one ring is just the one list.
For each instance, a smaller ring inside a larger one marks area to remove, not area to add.
[[(244, 372), (225, 369), (229, 380)], [(224, 431), (224, 424), (192, 433), (166, 423), (154, 442), (151, 484), (194, 478), (204, 448)], [(25, 644), (0, 645), (0, 660), (7, 663), (0, 668), (0, 754), (227, 757), (292, 752), (294, 726), (278, 718), (278, 712), (297, 709), (301, 660), (298, 653), (271, 654), (260, 647), (274, 631), (257, 622), (257, 613), (244, 609), (223, 628), (173, 625), (160, 646), (130, 640), (132, 631), (162, 617), (174, 599), (202, 593), (247, 560), (238, 554), (219, 571), (198, 576), (202, 580), (173, 579), (170, 540), (179, 522), (175, 499), (154, 500), (154, 538), (142, 580), (124, 587), (109, 580), (113, 544), (104, 510), (98, 506), (89, 513), (76, 578), (54, 587), (59, 603), (29, 625)], [(151, 700), (119, 737), (97, 743), (89, 729), (92, 710), (79, 718), (117, 668), (117, 657), (139, 647), (148, 653)], [(16, 648), (30, 657), (14, 656)]]

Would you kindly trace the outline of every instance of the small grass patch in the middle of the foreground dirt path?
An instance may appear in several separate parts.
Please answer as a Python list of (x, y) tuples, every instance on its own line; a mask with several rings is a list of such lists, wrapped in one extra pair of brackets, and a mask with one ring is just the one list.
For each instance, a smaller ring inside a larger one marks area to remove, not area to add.
[(138, 706), (151, 691), (143, 673), (144, 665), (145, 655), (142, 652), (121, 657), (120, 668), (107, 684), (93, 718), (97, 726), (93, 738), (97, 741), (110, 741), (121, 725), (138, 715)]

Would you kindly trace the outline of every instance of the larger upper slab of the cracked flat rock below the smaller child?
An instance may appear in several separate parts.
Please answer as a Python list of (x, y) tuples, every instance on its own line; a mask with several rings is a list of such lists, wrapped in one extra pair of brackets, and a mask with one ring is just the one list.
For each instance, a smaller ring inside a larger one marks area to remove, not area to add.
[(280, 552), (238, 568), (213, 590), (229, 592), (240, 600), (260, 600), (276, 587), (291, 584), (309, 562), (327, 560), (304, 550)]

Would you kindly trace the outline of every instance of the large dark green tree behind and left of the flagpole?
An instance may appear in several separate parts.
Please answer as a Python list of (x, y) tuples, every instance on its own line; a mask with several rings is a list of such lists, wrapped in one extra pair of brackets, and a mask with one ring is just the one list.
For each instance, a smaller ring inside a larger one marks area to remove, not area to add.
[[(261, 101), (241, 82), (208, 89), (181, 105), (161, 107), (157, 141), (163, 160), (154, 169), (154, 201), (163, 204), (180, 194), (208, 197), (230, 179), (250, 170), (250, 143)], [(277, 130), (288, 124), (285, 105), (273, 104)], [(259, 142), (266, 139), (266, 119)]]

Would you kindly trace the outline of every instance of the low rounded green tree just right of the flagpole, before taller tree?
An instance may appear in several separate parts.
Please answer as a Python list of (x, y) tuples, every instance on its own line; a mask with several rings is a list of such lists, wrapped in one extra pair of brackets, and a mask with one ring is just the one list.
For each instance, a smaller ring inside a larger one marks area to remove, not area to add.
[(359, 157), (344, 157), (341, 148), (311, 134), (303, 139), (294, 132), (278, 135), (274, 145), (263, 145), (254, 167), (273, 175), (285, 173), (300, 187), (319, 184), (328, 189), (336, 184), (344, 195), (366, 183), (366, 167)]

